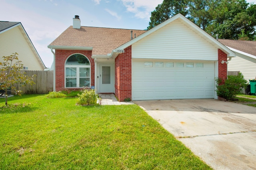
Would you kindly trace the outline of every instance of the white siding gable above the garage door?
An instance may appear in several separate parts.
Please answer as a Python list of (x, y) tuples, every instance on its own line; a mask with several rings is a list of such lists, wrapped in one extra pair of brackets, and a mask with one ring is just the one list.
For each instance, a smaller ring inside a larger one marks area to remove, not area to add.
[(132, 58), (218, 60), (218, 49), (179, 20), (132, 45)]

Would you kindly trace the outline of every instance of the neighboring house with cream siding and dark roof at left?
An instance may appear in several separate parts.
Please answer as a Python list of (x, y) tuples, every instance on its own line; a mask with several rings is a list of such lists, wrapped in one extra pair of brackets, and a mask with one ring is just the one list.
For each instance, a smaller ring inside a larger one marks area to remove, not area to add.
[(3, 56), (18, 53), (25, 70), (46, 69), (28, 34), (20, 22), (0, 21), (0, 61)]

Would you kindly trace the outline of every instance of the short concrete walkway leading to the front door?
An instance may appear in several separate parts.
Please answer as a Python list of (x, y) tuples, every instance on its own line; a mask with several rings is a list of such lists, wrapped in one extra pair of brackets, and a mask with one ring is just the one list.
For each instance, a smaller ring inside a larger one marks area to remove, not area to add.
[(100, 105), (133, 105), (132, 101), (120, 102), (116, 99), (114, 94), (99, 94)]

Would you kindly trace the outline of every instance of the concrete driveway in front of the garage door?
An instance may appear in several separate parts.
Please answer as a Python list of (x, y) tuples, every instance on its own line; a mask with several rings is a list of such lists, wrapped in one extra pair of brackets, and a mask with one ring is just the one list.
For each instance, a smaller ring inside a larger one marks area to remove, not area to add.
[(256, 170), (256, 108), (215, 99), (134, 101), (216, 170)]

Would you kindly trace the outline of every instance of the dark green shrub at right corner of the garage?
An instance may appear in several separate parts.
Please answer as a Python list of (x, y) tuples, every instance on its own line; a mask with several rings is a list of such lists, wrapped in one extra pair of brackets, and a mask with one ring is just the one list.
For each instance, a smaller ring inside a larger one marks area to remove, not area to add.
[(238, 95), (243, 87), (247, 87), (247, 81), (244, 79), (242, 73), (238, 75), (228, 75), (228, 79), (224, 80), (224, 84), (222, 84), (222, 79), (220, 78), (216, 78), (215, 81), (218, 97), (223, 97), (227, 100)]

